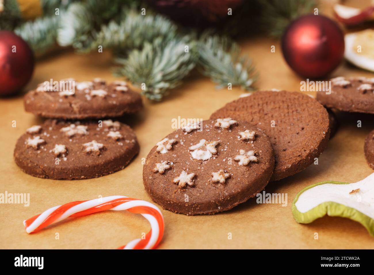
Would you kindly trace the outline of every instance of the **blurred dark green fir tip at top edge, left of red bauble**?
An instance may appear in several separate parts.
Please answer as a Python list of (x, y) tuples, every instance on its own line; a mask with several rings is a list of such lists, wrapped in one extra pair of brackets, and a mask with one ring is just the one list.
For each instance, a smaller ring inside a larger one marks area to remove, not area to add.
[(289, 23), (297, 17), (311, 12), (316, 7), (314, 0), (260, 0), (263, 5), (263, 21), (269, 34), (279, 38)]

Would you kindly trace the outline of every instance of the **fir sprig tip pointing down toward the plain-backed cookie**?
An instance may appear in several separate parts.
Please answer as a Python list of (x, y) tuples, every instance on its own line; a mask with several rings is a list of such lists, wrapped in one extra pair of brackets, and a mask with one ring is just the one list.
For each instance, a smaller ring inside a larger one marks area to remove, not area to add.
[(245, 56), (240, 57), (240, 49), (227, 37), (203, 35), (199, 41), (199, 64), (203, 74), (218, 83), (217, 88), (241, 86), (252, 90), (256, 77), (251, 61)]

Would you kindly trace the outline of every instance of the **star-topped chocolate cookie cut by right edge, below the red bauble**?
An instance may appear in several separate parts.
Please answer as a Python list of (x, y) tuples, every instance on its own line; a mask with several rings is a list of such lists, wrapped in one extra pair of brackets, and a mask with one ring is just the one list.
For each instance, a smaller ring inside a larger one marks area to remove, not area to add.
[(317, 92), (317, 100), (325, 107), (340, 111), (374, 114), (374, 78), (335, 77), (331, 94)]

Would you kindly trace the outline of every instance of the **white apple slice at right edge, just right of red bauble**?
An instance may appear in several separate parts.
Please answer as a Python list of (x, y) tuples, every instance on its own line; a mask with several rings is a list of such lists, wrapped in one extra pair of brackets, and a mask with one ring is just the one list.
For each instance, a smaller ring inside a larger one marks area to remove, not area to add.
[(344, 57), (359, 68), (374, 71), (374, 30), (344, 36)]

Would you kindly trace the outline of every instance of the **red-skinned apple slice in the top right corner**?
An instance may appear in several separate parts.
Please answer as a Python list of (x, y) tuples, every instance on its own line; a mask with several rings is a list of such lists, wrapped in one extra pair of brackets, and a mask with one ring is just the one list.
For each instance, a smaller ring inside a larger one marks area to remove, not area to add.
[(346, 25), (356, 25), (374, 19), (374, 6), (361, 10), (355, 7), (336, 4), (334, 5), (334, 12), (338, 21)]

